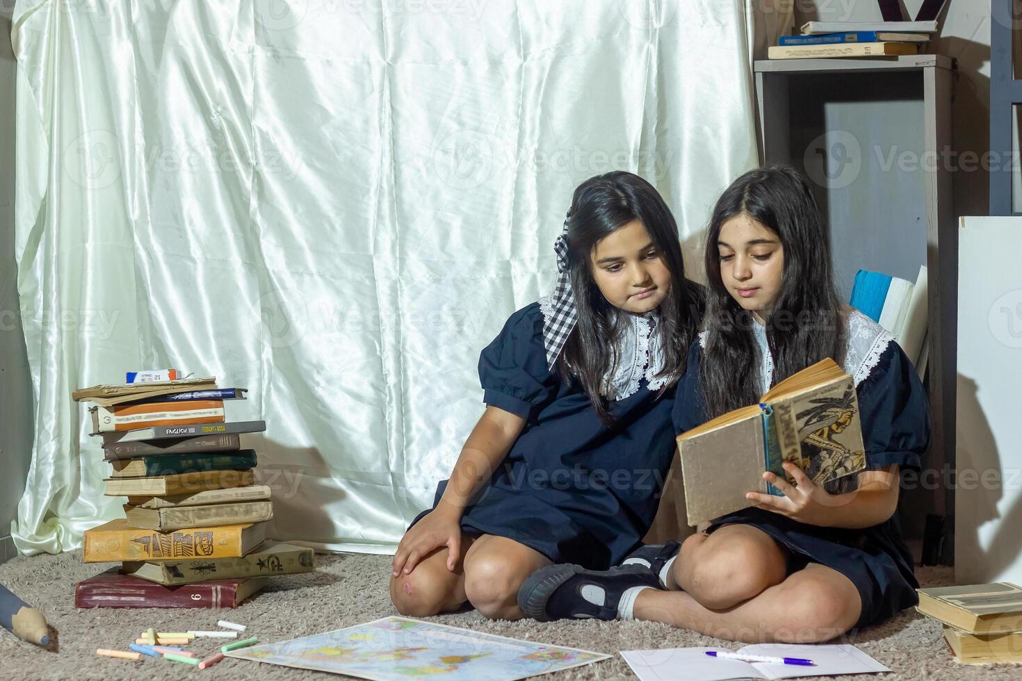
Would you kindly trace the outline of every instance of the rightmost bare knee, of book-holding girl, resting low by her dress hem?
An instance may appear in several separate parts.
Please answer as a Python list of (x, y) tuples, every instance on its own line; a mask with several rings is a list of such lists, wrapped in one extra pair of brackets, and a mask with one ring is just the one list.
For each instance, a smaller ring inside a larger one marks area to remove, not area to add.
[(842, 588), (833, 581), (801, 580), (790, 596), (774, 628), (774, 639), (782, 643), (829, 641), (855, 626), (862, 612), (858, 591), (850, 582)]

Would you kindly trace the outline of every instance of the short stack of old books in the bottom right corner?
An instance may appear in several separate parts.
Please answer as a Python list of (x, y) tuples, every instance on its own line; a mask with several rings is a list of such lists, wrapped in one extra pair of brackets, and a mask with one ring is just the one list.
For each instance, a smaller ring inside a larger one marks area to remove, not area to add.
[(1022, 587), (1010, 582), (918, 589), (923, 615), (943, 625), (966, 665), (1022, 663)]

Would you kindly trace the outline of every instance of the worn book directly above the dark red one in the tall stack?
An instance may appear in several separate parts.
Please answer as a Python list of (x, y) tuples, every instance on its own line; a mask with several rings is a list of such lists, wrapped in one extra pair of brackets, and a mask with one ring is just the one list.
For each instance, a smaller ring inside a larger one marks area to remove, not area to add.
[(273, 541), (264, 542), (240, 558), (129, 562), (121, 567), (127, 575), (168, 586), (217, 579), (297, 575), (315, 569), (313, 549)]

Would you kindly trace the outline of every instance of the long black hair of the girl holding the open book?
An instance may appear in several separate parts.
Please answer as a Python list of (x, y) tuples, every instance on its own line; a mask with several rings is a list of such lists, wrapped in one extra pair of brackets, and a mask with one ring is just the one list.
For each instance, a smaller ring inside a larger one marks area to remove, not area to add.
[(706, 418), (759, 401), (760, 372), (752, 313), (721, 279), (717, 241), (726, 222), (745, 213), (775, 233), (784, 249), (781, 293), (764, 321), (774, 360), (771, 385), (846, 347), (834, 287), (830, 236), (806, 180), (787, 165), (749, 171), (717, 199), (706, 235), (706, 347), (700, 368)]

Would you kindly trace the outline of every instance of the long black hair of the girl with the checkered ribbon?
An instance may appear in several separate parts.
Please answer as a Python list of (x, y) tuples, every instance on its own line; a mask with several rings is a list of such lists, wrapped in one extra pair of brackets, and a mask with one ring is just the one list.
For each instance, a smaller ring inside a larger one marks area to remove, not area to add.
[(608, 426), (614, 420), (601, 388), (604, 377), (612, 376), (621, 359), (617, 356), (617, 340), (629, 321), (626, 314), (616, 313), (600, 292), (593, 280), (590, 254), (601, 239), (637, 220), (646, 228), (671, 277), (670, 290), (660, 303), (657, 324), (664, 355), (659, 376), (667, 377), (661, 392), (685, 373), (688, 347), (702, 313), (701, 287), (685, 278), (678, 225), (653, 186), (624, 171), (582, 183), (571, 198), (566, 236), (578, 323), (557, 358), (557, 371), (565, 381), (572, 376), (579, 381), (600, 420)]

